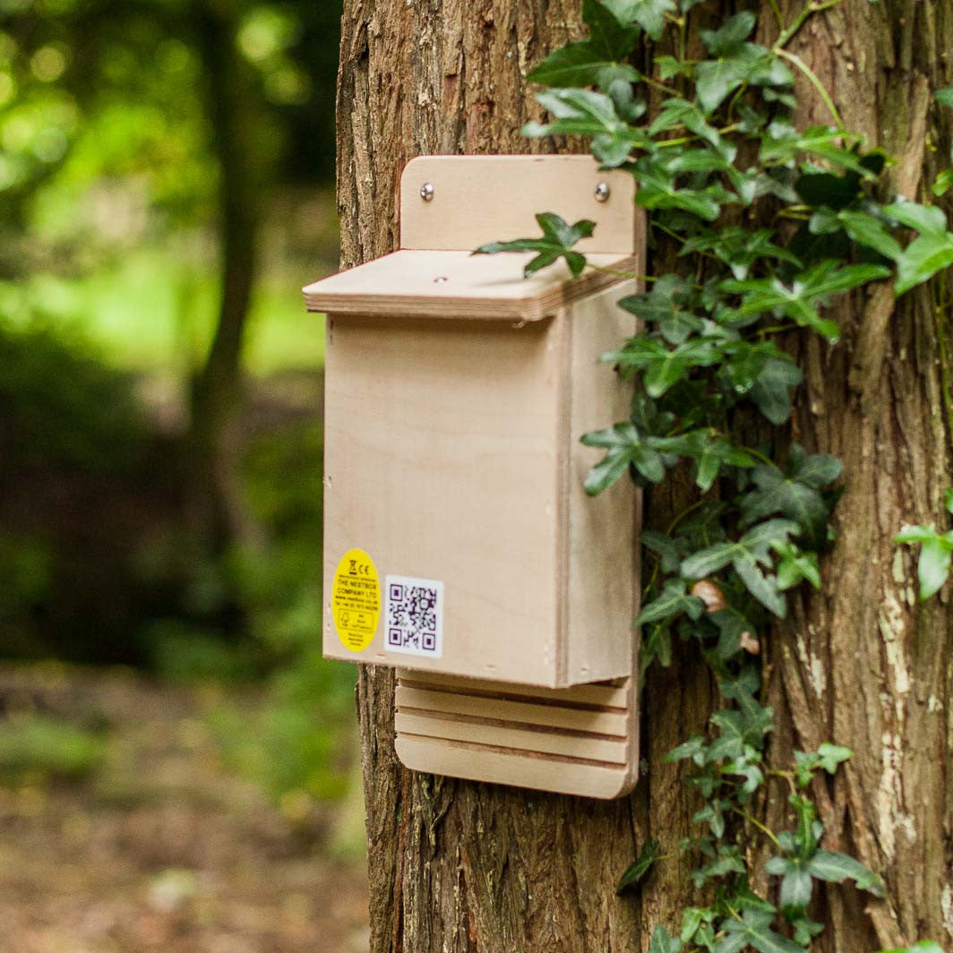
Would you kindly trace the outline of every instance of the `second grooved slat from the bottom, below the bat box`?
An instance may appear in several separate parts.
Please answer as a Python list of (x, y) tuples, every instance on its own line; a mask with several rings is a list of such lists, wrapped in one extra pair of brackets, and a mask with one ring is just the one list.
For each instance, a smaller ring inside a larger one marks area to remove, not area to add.
[(571, 758), (610, 761), (615, 764), (624, 764), (628, 751), (628, 744), (624, 739), (609, 741), (600, 738), (584, 738), (551, 731), (531, 731), (526, 728), (481, 724), (474, 721), (434, 718), (405, 711), (397, 711), (395, 728), (401, 735), (471, 741), (492, 744), (500, 748), (516, 748), (521, 751), (537, 751)]

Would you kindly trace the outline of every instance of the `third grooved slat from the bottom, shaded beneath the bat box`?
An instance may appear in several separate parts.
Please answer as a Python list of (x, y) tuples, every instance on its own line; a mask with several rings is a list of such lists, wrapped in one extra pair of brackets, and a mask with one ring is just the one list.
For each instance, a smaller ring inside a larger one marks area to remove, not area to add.
[(545, 725), (551, 728), (569, 728), (573, 731), (592, 731), (600, 735), (615, 735), (618, 738), (626, 737), (629, 723), (628, 716), (624, 713), (560, 708), (558, 705), (480, 698), (453, 692), (429, 692), (405, 685), (397, 686), (396, 705), (397, 708), (421, 708), (426, 711), (473, 715), (477, 718)]

